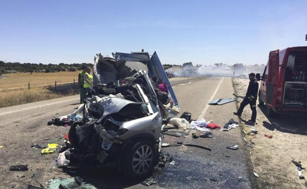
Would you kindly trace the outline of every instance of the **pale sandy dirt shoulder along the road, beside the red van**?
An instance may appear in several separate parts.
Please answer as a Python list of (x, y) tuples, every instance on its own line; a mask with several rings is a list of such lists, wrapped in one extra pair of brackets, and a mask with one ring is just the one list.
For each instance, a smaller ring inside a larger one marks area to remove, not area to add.
[[(238, 95), (245, 96), (248, 82), (246, 79), (233, 79)], [(294, 159), (307, 166), (306, 117), (277, 115), (271, 118), (267, 116), (266, 106), (259, 107), (257, 103), (256, 108), (257, 124), (244, 125), (247, 130), (258, 130), (256, 137), (252, 138), (255, 145), (250, 149), (250, 157), (253, 169), (259, 175), (259, 189), (306, 189), (306, 180), (299, 179), (298, 169), (291, 162)], [(242, 118), (248, 120), (250, 116), (251, 110), (246, 106)], [(264, 135), (273, 135), (273, 138)], [(248, 136), (246, 138), (249, 139)], [(307, 176), (306, 170), (302, 173)]]

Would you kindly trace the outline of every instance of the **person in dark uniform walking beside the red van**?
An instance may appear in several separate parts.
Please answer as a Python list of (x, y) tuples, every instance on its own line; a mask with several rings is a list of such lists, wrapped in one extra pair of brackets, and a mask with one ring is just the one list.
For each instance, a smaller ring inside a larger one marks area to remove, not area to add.
[(242, 101), (240, 108), (238, 109), (238, 112), (233, 112), (233, 114), (238, 115), (239, 117), (241, 116), (243, 109), (246, 107), (246, 105), (249, 104), (250, 109), (252, 111), (251, 113), (251, 119), (248, 121), (250, 122), (256, 122), (256, 101), (257, 101), (257, 95), (258, 95), (258, 82), (255, 80), (255, 74), (250, 73), (248, 74), (249, 77), (249, 84), (246, 92), (246, 96), (244, 100)]

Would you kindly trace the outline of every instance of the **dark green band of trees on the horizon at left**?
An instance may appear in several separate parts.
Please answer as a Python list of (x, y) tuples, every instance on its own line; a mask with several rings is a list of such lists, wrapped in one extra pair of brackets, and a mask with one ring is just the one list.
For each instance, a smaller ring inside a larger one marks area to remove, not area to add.
[(81, 64), (33, 64), (33, 63), (20, 63), (20, 62), (3, 62), (0, 60), (0, 74), (14, 73), (14, 72), (65, 72), (81, 70), (82, 66), (90, 66), (91, 63)]

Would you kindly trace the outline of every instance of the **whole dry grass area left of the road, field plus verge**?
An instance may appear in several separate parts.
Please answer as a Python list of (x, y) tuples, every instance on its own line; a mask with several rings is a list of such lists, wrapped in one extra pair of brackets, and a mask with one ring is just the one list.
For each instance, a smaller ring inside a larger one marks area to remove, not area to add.
[[(0, 108), (21, 105), (31, 102), (60, 98), (73, 95), (72, 91), (67, 91), (65, 95), (54, 93), (44, 86), (57, 85), (61, 83), (78, 82), (79, 72), (57, 72), (57, 73), (17, 73), (4, 74), (0, 79)], [(30, 82), (30, 91), (28, 90)]]

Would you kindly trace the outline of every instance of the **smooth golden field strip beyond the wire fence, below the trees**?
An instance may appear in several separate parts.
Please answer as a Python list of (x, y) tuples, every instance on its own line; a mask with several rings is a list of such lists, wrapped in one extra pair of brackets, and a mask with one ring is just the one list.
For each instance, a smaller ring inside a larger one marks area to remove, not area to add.
[(0, 89), (46, 86), (73, 82), (75, 79), (78, 82), (79, 72), (56, 72), (56, 73), (17, 73), (17, 74), (3, 74), (4, 78), (0, 79)]

